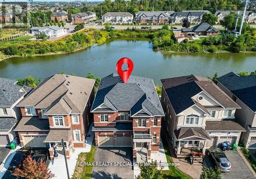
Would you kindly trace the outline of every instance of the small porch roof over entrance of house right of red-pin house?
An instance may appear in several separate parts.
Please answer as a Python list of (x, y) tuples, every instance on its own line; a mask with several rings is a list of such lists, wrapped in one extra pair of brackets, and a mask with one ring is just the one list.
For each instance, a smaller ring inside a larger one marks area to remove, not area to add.
[(177, 140), (188, 140), (188, 138), (197, 140), (203, 138), (202, 140), (211, 140), (208, 133), (202, 128), (179, 128), (175, 129), (174, 133)]

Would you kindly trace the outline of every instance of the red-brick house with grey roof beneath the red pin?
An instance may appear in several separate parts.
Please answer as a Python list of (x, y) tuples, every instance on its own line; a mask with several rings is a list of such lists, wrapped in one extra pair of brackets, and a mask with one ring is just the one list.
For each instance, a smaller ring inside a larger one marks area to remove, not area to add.
[(96, 146), (133, 147), (137, 161), (159, 151), (164, 114), (152, 79), (130, 76), (123, 83), (116, 74), (102, 78), (91, 113)]

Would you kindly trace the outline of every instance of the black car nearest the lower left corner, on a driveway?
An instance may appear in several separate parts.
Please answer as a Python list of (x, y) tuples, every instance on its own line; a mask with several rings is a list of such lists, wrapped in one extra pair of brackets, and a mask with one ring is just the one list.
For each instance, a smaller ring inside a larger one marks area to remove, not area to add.
[(9, 170), (15, 170), (15, 168), (20, 168), (22, 166), (23, 161), (26, 159), (28, 155), (32, 153), (31, 147), (22, 147), (18, 151), (16, 151), (15, 155), (12, 158), (12, 161), (9, 165)]

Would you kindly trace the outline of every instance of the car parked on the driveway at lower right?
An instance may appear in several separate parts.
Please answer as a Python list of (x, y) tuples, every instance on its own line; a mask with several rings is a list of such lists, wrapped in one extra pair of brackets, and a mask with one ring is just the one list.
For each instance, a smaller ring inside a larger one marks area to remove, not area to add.
[(215, 169), (219, 169), (222, 172), (230, 172), (231, 164), (227, 159), (225, 153), (219, 148), (209, 148), (206, 153), (210, 156), (212, 162), (215, 164)]

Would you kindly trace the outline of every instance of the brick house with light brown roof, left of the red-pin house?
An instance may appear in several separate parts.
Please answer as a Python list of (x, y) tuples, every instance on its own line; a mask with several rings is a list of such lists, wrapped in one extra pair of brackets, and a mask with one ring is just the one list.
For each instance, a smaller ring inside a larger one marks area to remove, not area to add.
[(56, 74), (43, 80), (17, 106), (22, 119), (16, 126), (22, 146), (49, 147), (67, 158), (75, 148), (84, 147), (92, 121), (90, 108), (94, 99), (95, 80)]

